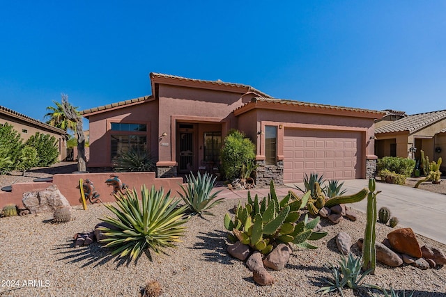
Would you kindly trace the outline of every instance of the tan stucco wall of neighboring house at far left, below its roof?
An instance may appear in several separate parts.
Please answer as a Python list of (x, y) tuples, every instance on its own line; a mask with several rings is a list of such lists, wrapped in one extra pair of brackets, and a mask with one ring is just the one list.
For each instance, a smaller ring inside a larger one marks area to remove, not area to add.
[[(0, 114), (0, 124), (4, 125), (8, 123), (14, 127), (14, 129), (19, 132), (22, 137), (23, 142), (27, 141), (31, 136), (39, 132), (40, 134), (49, 134), (50, 136), (54, 136), (57, 140), (57, 144), (59, 146), (59, 161), (63, 161), (67, 156), (67, 141), (65, 136), (61, 134), (57, 134), (54, 131), (49, 129), (45, 129), (43, 127), (33, 126), (27, 122), (22, 122), (21, 120), (10, 118), (7, 115)], [(26, 130), (23, 131), (23, 130)]]

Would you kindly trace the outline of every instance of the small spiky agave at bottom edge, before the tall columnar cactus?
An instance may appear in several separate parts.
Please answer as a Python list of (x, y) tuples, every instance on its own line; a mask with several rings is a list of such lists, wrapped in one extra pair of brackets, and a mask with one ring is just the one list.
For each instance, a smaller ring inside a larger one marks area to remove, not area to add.
[(361, 273), (362, 257), (354, 257), (352, 254), (348, 254), (348, 257), (341, 256), (341, 260), (338, 260), (339, 267), (331, 266), (330, 272), (332, 273), (332, 280), (327, 280), (330, 286), (322, 287), (318, 289), (316, 293), (322, 293), (321, 295), (339, 291), (339, 294), (344, 297), (342, 288), (348, 287), (349, 289), (371, 288), (382, 290), (380, 287), (374, 284), (364, 284), (362, 280), (371, 272), (371, 269)]

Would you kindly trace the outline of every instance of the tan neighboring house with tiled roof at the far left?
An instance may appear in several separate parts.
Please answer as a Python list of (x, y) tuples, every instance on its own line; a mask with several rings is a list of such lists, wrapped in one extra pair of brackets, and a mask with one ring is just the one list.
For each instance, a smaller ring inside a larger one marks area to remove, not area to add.
[(34, 120), (29, 118), (22, 113), (17, 113), (4, 106), (0, 106), (0, 125), (8, 123), (14, 127), (14, 129), (19, 132), (23, 141), (27, 141), (28, 138), (40, 132), (40, 134), (49, 134), (54, 136), (57, 140), (57, 145), (59, 146), (59, 161), (66, 159), (67, 155), (67, 137), (68, 134), (62, 129), (50, 126), (39, 120)]

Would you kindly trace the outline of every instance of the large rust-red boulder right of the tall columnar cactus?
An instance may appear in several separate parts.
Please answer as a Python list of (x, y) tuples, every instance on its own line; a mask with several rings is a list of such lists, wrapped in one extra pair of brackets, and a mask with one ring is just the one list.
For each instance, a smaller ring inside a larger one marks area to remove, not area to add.
[(421, 258), (422, 252), (417, 237), (411, 228), (400, 228), (387, 234), (392, 250)]

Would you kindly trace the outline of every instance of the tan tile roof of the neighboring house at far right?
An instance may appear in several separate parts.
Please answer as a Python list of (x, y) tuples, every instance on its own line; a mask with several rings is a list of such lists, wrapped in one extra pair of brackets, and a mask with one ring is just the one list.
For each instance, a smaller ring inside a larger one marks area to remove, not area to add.
[(409, 131), (409, 133), (413, 133), (444, 119), (446, 119), (446, 110), (432, 111), (429, 113), (417, 113), (416, 115), (408, 115), (406, 118), (389, 122), (388, 124), (377, 128), (375, 133), (392, 133), (402, 131)]

